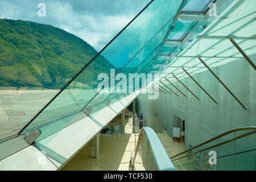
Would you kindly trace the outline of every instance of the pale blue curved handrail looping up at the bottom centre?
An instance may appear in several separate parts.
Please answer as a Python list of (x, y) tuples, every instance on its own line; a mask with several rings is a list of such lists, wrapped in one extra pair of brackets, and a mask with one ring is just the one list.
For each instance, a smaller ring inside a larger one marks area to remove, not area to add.
[(166, 153), (166, 150), (160, 142), (158, 135), (156, 135), (155, 131), (151, 129), (151, 127), (142, 127), (142, 129), (139, 131), (139, 138), (132, 166), (134, 167), (135, 159), (138, 154), (139, 148), (141, 147), (141, 142), (145, 133), (147, 135), (148, 142), (154, 154), (159, 171), (174, 171), (174, 165), (172, 164), (168, 154)]

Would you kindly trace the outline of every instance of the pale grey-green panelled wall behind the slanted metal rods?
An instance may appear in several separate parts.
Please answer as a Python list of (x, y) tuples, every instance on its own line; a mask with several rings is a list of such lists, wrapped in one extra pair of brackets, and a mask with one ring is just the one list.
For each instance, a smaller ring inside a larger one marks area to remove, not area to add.
[[(256, 55), (250, 56), (250, 58), (255, 63)], [(167, 86), (179, 96), (159, 92), (157, 100), (148, 100), (147, 94), (140, 94), (138, 96), (139, 112), (144, 113), (146, 125), (153, 127), (156, 132), (167, 129), (168, 135), (172, 137), (172, 127), (177, 125), (174, 116), (184, 119), (185, 148), (188, 148), (189, 144), (195, 146), (235, 127), (256, 126), (255, 70), (243, 58), (212, 70), (247, 107), (247, 110), (243, 109), (207, 70), (193, 75), (193, 78), (207, 90), (218, 104), (210, 100), (191, 78), (182, 78), (181, 81), (200, 98), (200, 101), (177, 81), (172, 83), (187, 98), (170, 84)]]

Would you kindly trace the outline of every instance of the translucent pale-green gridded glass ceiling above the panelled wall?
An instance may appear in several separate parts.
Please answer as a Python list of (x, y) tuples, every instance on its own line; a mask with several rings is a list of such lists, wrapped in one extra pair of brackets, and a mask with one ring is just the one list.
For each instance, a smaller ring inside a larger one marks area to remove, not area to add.
[[(235, 3), (232, 4), (233, 6), (230, 5), (228, 7), (229, 11), (225, 11), (225, 13), (218, 16), (204, 32), (193, 40), (164, 69), (164, 75), (160, 75), (160, 77), (175, 80), (171, 73), (176, 73), (178, 78), (187, 77), (181, 67), (187, 67), (186, 70), (191, 74), (207, 70), (197, 58), (198, 56), (211, 68), (241, 59), (243, 56), (230, 42), (230, 37), (236, 41), (246, 55), (253, 55), (255, 53), (254, 30), (256, 23), (254, 18), (256, 12), (252, 4), (255, 5), (255, 2), (248, 1), (240, 6), (237, 6)], [(244, 11), (245, 9), (246, 12)]]

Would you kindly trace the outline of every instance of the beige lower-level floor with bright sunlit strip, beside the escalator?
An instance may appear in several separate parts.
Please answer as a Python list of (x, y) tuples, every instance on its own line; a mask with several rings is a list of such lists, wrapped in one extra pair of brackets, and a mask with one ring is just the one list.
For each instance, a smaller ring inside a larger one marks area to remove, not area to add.
[[(94, 140), (90, 141), (82, 150), (69, 161), (61, 170), (107, 170), (107, 171), (128, 171), (131, 152), (135, 152), (138, 134), (133, 131), (133, 118), (125, 118), (125, 134), (101, 134), (100, 135), (100, 159), (92, 158), (91, 147)], [(173, 142), (167, 135), (158, 133), (167, 154), (171, 157), (184, 151), (184, 144)], [(137, 170), (143, 170), (140, 164), (140, 156), (137, 156)]]

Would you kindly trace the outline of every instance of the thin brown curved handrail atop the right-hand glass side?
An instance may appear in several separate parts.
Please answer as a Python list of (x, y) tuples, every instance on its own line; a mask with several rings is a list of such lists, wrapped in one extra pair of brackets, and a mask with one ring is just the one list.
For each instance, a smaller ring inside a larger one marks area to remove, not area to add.
[[(236, 138), (234, 138), (234, 139), (242, 138), (242, 137), (245, 137), (245, 136), (247, 136), (247, 135), (256, 133), (256, 126), (237, 127), (237, 128), (234, 128), (234, 129), (230, 129), (230, 130), (224, 131), (223, 133), (218, 134), (218, 135), (216, 135), (215, 137), (206, 140), (205, 142), (202, 142), (202, 143), (200, 143), (200, 144), (197, 144), (195, 147), (191, 147), (191, 148), (189, 148), (188, 150), (185, 150), (185, 151), (183, 151), (183, 152), (180, 152), (179, 154), (176, 154), (176, 155), (172, 156), (170, 159), (176, 158), (177, 156), (179, 156), (179, 155), (181, 155), (181, 154), (184, 154), (185, 152), (188, 152), (188, 151), (191, 151), (191, 150), (193, 150), (193, 149), (195, 149), (195, 148), (198, 148), (198, 147), (200, 147), (200, 146), (203, 146), (204, 144), (207, 144), (207, 143), (209, 143), (209, 142), (212, 142), (213, 140), (216, 140), (216, 139), (218, 139), (218, 138), (224, 137), (225, 135), (228, 135), (228, 134), (230, 134), (230, 133), (234, 133), (234, 132), (236, 132), (236, 131), (242, 131), (242, 130), (255, 130), (255, 131), (252, 131), (252, 132), (247, 133), (247, 134), (240, 135), (239, 137), (236, 137)], [(226, 142), (222, 142), (222, 143), (220, 143), (220, 144), (216, 144), (216, 145), (214, 145), (214, 146), (212, 146), (212, 147), (216, 147), (216, 146), (219, 146), (219, 145), (221, 145), (221, 144), (228, 143), (228, 142), (230, 142), (230, 141), (232, 141), (232, 140), (234, 140), (234, 139), (230, 139), (230, 140), (227, 140)], [(204, 148), (204, 149), (202, 149), (202, 150), (200, 150), (200, 151), (204, 151), (204, 150), (207, 150), (208, 148), (212, 148), (212, 147), (207, 147), (207, 148)], [(197, 151), (197, 152), (200, 152), (200, 151)], [(196, 152), (196, 153), (197, 153), (197, 152)], [(191, 154), (188, 154), (188, 155), (186, 155), (186, 156), (189, 156), (189, 155), (191, 155)], [(186, 156), (183, 156), (182, 158), (185, 158)], [(180, 159), (180, 158), (179, 158), (179, 159)], [(175, 159), (175, 160), (177, 160), (177, 159)]]

